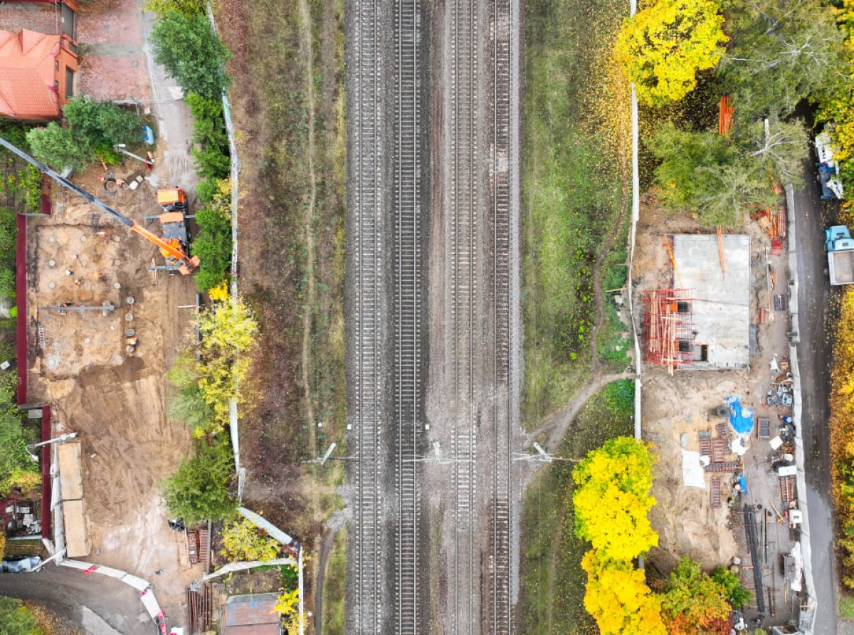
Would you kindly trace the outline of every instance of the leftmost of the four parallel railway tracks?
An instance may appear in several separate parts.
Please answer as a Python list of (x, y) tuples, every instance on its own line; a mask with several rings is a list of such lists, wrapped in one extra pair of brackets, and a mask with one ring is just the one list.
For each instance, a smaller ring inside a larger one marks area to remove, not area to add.
[(354, 436), (359, 461), (354, 469), (355, 606), (358, 632), (379, 633), (383, 623), (382, 412), (380, 385), (380, 279), (382, 203), (380, 199), (380, 138), (377, 0), (360, 0), (354, 16), (357, 109), (354, 126), (354, 213), (358, 284), (354, 313)]

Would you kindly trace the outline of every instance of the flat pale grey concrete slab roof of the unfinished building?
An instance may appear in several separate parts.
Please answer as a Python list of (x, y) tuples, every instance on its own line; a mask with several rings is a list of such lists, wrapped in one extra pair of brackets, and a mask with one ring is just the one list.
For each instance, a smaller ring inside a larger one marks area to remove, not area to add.
[(722, 246), (725, 273), (716, 234), (673, 237), (673, 286), (693, 291), (694, 345), (707, 347), (697, 368), (750, 366), (750, 238), (724, 235)]

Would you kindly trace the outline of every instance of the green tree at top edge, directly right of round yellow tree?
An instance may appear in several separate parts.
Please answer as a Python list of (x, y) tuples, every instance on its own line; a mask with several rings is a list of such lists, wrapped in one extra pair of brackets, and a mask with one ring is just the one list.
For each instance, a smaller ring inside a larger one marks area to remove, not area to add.
[(843, 36), (819, 0), (727, 0), (730, 36), (719, 73), (737, 116), (785, 119), (799, 101), (845, 81)]

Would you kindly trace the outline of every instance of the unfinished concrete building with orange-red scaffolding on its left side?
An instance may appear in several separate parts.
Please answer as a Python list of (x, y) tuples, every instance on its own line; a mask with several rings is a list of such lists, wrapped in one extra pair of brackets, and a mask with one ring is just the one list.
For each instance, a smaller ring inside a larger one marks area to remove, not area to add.
[[(694, 369), (750, 366), (750, 238), (666, 237), (672, 286), (642, 295), (644, 360)], [(670, 241), (672, 240), (672, 245)]]

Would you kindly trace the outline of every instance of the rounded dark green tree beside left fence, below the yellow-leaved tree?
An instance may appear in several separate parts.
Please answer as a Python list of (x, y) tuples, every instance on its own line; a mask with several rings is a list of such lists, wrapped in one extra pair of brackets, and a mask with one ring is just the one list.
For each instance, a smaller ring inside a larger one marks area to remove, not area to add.
[(189, 459), (178, 466), (163, 486), (169, 513), (189, 524), (221, 520), (234, 513), (231, 445), (227, 438), (200, 439)]

